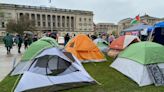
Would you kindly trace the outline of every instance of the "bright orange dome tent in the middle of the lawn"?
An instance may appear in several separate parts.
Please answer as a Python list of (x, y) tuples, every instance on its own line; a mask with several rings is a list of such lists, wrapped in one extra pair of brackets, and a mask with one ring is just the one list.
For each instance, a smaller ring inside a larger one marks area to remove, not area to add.
[(82, 62), (105, 61), (103, 53), (96, 44), (84, 34), (79, 34), (71, 39), (67, 43), (65, 50), (75, 55)]

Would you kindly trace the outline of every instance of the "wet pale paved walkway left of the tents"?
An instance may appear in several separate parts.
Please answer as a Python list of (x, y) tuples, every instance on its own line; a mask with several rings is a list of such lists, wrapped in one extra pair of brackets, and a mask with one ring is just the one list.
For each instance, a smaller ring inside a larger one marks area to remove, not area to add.
[[(14, 59), (16, 59), (16, 64), (19, 62), (22, 54), (18, 54), (17, 50), (17, 46), (14, 46), (11, 54), (7, 55), (6, 48), (0, 44), (0, 81), (12, 70)], [(23, 53), (24, 48), (21, 51)]]

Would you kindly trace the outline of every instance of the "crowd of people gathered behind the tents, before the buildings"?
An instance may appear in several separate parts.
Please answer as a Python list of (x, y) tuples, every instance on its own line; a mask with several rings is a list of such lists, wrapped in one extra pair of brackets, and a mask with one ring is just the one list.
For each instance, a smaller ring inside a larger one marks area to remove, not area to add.
[[(52, 38), (54, 38), (55, 40), (58, 41), (57, 33), (50, 33), (50, 34), (46, 33), (44, 36), (52, 37)], [(64, 38), (64, 46), (68, 43), (68, 41), (71, 38), (73, 38), (75, 36), (76, 36), (75, 34), (70, 36), (69, 33), (66, 33), (63, 37)], [(115, 36), (113, 34), (110, 34), (110, 35), (109, 34), (99, 34), (99, 35), (89, 35), (89, 34), (87, 34), (87, 36), (89, 38), (91, 38), (92, 40), (97, 39), (97, 38), (102, 38), (102, 39), (106, 40), (109, 43), (111, 43), (115, 39)], [(35, 42), (38, 39), (39, 38), (38, 38), (37, 35), (25, 34), (24, 36), (21, 36), (21, 35), (17, 34), (16, 36), (13, 37), (9, 33), (7, 33), (6, 36), (3, 38), (3, 42), (5, 44), (7, 54), (10, 53), (10, 51), (11, 51), (11, 49), (14, 45), (17, 45), (18, 53), (21, 53), (22, 44), (24, 44), (24, 48), (27, 49), (28, 46), (32, 42)]]

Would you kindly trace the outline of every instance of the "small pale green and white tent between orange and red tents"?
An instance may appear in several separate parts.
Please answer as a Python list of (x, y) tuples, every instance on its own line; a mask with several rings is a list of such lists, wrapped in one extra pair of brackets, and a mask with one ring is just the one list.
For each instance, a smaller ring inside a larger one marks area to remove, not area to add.
[(101, 38), (97, 38), (93, 41), (97, 47), (102, 51), (102, 52), (107, 52), (109, 49), (109, 44), (107, 41)]

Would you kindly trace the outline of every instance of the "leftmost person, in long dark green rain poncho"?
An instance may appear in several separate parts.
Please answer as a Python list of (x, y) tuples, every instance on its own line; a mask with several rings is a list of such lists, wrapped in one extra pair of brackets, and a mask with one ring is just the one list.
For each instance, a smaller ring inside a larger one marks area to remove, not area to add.
[(13, 39), (9, 33), (7, 33), (6, 36), (3, 38), (3, 42), (4, 42), (5, 47), (7, 49), (7, 54), (9, 54), (10, 50), (13, 46)]

